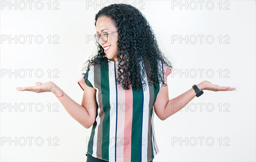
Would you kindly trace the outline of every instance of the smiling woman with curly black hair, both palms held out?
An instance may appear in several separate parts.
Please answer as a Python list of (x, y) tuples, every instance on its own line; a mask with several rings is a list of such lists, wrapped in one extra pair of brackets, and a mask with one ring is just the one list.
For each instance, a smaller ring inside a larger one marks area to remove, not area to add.
[[(144, 15), (131, 5), (113, 4), (96, 14), (95, 26), (98, 51), (78, 81), (84, 90), (81, 105), (53, 82), (17, 88), (52, 92), (81, 125), (93, 126), (87, 162), (152, 162), (159, 152), (154, 113), (165, 120), (203, 90), (235, 90), (203, 81), (169, 100), (167, 76), (172, 65)], [(172, 110), (173, 103), (180, 107)]]

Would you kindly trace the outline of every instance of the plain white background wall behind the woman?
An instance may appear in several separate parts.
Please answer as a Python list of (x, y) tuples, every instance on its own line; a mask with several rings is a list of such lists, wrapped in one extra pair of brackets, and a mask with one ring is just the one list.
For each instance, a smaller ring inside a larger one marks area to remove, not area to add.
[[(23, 2), (27, 5), (25, 9), (22, 9)], [(9, 1), (1, 1), (0, 161), (85, 162), (87, 138), (90, 137), (92, 127), (86, 129), (76, 122), (54, 94), (36, 94), (17, 91), (15, 88), (52, 81), (81, 104), (83, 91), (77, 81), (82, 64), (96, 46), (94, 40), (87, 38), (96, 33), (95, 14), (102, 7), (115, 2), (58, 0), (50, 1), (49, 9), (47, 0), (42, 1), (44, 6), (41, 10), (35, 7), (38, 1), (33, 1), (31, 10), (29, 3), (23, 2), (16, 1), (17, 9), (15, 6), (9, 9)], [(256, 3), (254, 0), (203, 1), (201, 9), (198, 1), (182, 1), (183, 4), (187, 3), (187, 9), (186, 6), (180, 6), (180, 3), (167, 0), (129, 1), (133, 6), (136, 4), (145, 15), (156, 34), (160, 49), (172, 62), (173, 73), (168, 77), (169, 99), (179, 96), (203, 80), (235, 87), (236, 91), (204, 90), (201, 97), (195, 97), (189, 102), (187, 109), (181, 109), (181, 112), (166, 120), (161, 121), (155, 115), (154, 126), (160, 152), (153, 161), (255, 161)], [(212, 3), (214, 6), (210, 9)], [(40, 7), (40, 3), (37, 4)], [(195, 4), (197, 7), (194, 9)], [(53, 10), (56, 5), (58, 10)], [(15, 40), (9, 43), (9, 39), (3, 39), (4, 35), (11, 35), (12, 38), (15, 35), (34, 37), (31, 44), (29, 40), (23, 44), (17, 41), (16, 44)], [(35, 42), (37, 35), (44, 37), (43, 43)], [(51, 41), (55, 40), (53, 35), (58, 35), (59, 44), (49, 44), (49, 35)], [(183, 38), (188, 35), (191, 39), (195, 35), (198, 41), (193, 44), (193, 40), (188, 43), (185, 40), (181, 43), (173, 40), (172, 43), (172, 35), (181, 35)], [(204, 35), (202, 43), (198, 35)], [(213, 43), (206, 41), (208, 35), (214, 37)], [(219, 35), (222, 37), (221, 43)], [(229, 37), (229, 44), (223, 43), (227, 39), (224, 35)], [(27, 72), (25, 77), (22, 77), (22, 69)], [(31, 77), (27, 69), (33, 69)], [(43, 77), (35, 75), (38, 69), (44, 72)], [(50, 76), (47, 72), (49, 69)], [(53, 77), (57, 73), (54, 69), (57, 69), (58, 77)], [(204, 70), (201, 76), (198, 69)], [(180, 72), (183, 72), (181, 76)], [(33, 104), (31, 111), (29, 103)], [(54, 103), (59, 105), (59, 112), (48, 111), (47, 105), (54, 108)], [(35, 111), (36, 104), (43, 105), (43, 111)], [(15, 111), (15, 107), (23, 109), (22, 105), (26, 105), (26, 111)], [(213, 111), (209, 111), (212, 108)], [(224, 108), (229, 112), (224, 112)], [(15, 141), (15, 137), (17, 145), (15, 142), (3, 142), (6, 138)], [(31, 146), (28, 137), (34, 137)], [(35, 143), (37, 137), (44, 140), (43, 145)], [(175, 138), (186, 141), (186, 137), (187, 145), (186, 142), (172, 142)], [(200, 137), (203, 138), (201, 145)], [(27, 139), (24, 146), (23, 138)], [(197, 143), (194, 139), (197, 139)], [(214, 140), (213, 145), (210, 145), (210, 139)], [(53, 142), (57, 142), (58, 146), (53, 146)]]

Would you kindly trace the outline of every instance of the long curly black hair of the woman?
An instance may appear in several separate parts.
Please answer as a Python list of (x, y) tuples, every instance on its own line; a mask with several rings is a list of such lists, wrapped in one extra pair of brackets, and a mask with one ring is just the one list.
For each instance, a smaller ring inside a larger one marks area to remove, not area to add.
[[(123, 3), (106, 6), (96, 14), (95, 26), (100, 16), (111, 18), (119, 31), (117, 83), (121, 83), (124, 89), (129, 89), (129, 85), (132, 85), (134, 89), (141, 89), (146, 85), (144, 78), (147, 74), (148, 85), (154, 84), (154, 88), (158, 88), (155, 83), (159, 83), (160, 79), (166, 86), (162, 77), (161, 66), (158, 66), (157, 61), (163, 61), (170, 70), (172, 63), (160, 51), (155, 34), (140, 10)], [(98, 44), (97, 54), (91, 60), (87, 60), (89, 63), (86, 69), (90, 65), (108, 63), (108, 60), (104, 49)], [(103, 65), (104, 68), (105, 65)], [(141, 69), (143, 69), (142, 75)]]

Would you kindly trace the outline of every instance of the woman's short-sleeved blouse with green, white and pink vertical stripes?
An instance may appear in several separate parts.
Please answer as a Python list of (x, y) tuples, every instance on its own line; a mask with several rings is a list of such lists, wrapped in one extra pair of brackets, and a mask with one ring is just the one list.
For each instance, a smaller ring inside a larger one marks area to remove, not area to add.
[[(82, 74), (78, 84), (96, 89), (99, 108), (93, 123), (87, 153), (107, 162), (149, 162), (159, 152), (154, 132), (154, 103), (164, 88), (148, 85), (145, 91), (125, 90), (116, 83), (118, 63), (108, 60), (108, 68), (93, 66)], [(172, 72), (159, 62), (164, 82)], [(142, 110), (143, 111), (140, 111)]]

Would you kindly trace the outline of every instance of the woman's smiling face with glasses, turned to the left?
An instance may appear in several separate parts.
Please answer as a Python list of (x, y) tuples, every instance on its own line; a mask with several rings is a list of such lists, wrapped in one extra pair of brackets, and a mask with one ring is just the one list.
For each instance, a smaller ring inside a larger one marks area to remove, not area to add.
[[(116, 26), (113, 23), (113, 20), (109, 17), (100, 16), (97, 19), (96, 22), (96, 33), (102, 34), (102, 32), (113, 32), (118, 31)], [(109, 60), (118, 62), (117, 61), (117, 49), (118, 49), (118, 37), (119, 33), (114, 32), (111, 34), (108, 34), (108, 40), (107, 42), (102, 41), (102, 39), (99, 39), (99, 44), (104, 48), (104, 53), (108, 57)]]

